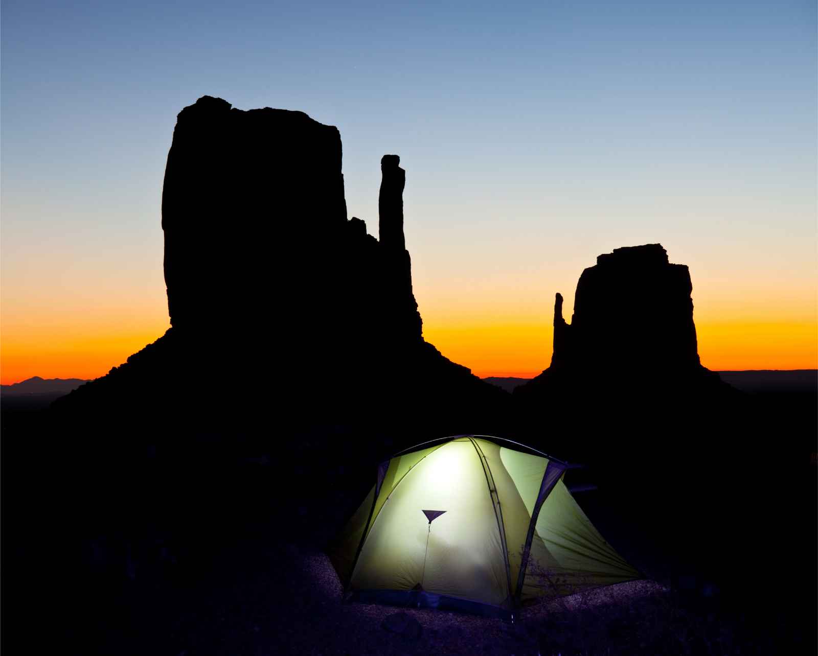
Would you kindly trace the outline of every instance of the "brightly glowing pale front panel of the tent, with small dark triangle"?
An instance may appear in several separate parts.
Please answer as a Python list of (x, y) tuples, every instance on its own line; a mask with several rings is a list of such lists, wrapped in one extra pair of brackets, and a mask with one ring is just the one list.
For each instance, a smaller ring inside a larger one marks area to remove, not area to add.
[[(446, 512), (429, 523), (424, 509)], [(407, 473), (358, 562), (366, 564), (353, 573), (360, 590), (413, 590), (422, 578), (434, 594), (502, 603), (508, 591), (497, 519), (468, 439), (444, 444)]]

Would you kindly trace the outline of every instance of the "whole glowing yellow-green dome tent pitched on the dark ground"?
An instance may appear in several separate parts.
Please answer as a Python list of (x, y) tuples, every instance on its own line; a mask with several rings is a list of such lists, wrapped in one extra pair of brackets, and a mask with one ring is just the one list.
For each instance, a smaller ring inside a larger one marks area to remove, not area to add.
[(381, 463), (330, 552), (353, 599), (507, 616), (640, 578), (573, 500), (565, 463), (497, 442), (461, 435)]

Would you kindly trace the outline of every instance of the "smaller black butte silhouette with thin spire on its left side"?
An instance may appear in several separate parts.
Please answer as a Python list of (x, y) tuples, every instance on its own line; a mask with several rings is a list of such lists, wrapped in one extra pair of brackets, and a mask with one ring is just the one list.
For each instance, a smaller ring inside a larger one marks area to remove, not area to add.
[(551, 366), (515, 396), (587, 408), (730, 393), (699, 362), (692, 290), (688, 268), (660, 244), (600, 255), (579, 278), (570, 324), (556, 294)]

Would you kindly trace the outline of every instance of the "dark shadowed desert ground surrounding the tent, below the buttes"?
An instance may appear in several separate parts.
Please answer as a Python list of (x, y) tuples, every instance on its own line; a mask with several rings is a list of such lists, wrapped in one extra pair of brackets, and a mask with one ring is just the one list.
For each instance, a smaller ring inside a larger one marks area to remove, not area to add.
[(128, 434), (124, 422), (92, 440), (62, 433), (47, 411), (5, 411), (3, 646), (173, 656), (815, 653), (816, 398), (757, 395), (747, 411), (699, 434), (680, 417), (652, 435), (612, 429), (607, 447), (599, 435), (512, 427), (506, 436), (588, 465), (566, 482), (596, 487), (578, 492), (579, 503), (645, 573), (645, 582), (525, 609), (513, 624), (341, 599), (326, 545), (384, 453), (438, 435), (268, 425), (230, 443), (185, 443), (159, 430)]

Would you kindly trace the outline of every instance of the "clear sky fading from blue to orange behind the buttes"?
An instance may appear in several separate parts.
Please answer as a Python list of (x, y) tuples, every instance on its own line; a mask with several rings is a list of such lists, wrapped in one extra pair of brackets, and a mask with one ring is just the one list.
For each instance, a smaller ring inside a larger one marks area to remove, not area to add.
[(425, 337), (478, 375), (542, 371), (554, 293), (655, 242), (705, 366), (818, 366), (814, 0), (7, 0), (0, 65), (2, 383), (167, 328), (162, 176), (205, 94), (338, 126), (375, 236), (401, 155)]

